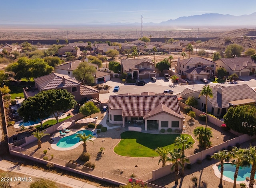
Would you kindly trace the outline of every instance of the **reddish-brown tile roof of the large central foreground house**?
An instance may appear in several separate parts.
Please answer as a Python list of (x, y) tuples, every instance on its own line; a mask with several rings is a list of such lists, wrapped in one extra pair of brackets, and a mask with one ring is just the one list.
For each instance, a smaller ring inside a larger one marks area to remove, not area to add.
[(176, 95), (114, 95), (108, 100), (108, 107), (112, 110), (122, 110), (124, 117), (143, 117), (159, 104), (180, 113), (180, 106)]

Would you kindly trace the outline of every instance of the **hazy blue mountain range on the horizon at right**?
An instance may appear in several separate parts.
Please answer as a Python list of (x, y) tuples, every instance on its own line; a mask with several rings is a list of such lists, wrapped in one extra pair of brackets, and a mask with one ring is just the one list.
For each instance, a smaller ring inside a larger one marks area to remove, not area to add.
[(202, 25), (202, 26), (236, 26), (236, 25), (256, 25), (256, 12), (250, 15), (232, 16), (229, 14), (202, 14), (194, 16), (184, 16), (175, 20), (167, 20), (160, 25)]

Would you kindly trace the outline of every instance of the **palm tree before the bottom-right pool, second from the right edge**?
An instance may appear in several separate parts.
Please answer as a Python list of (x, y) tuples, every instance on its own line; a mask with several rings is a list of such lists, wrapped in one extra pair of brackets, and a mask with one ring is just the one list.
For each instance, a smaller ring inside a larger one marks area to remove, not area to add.
[(234, 174), (234, 184), (233, 184), (233, 188), (236, 188), (236, 178), (238, 176), (238, 170), (239, 170), (239, 167), (240, 166), (244, 166), (244, 161), (245, 161), (245, 150), (242, 149), (242, 148), (237, 148), (237, 147), (234, 147), (232, 149), (232, 158), (234, 158), (233, 161), (231, 161), (232, 164), (236, 165), (236, 171), (235, 171), (235, 174)]

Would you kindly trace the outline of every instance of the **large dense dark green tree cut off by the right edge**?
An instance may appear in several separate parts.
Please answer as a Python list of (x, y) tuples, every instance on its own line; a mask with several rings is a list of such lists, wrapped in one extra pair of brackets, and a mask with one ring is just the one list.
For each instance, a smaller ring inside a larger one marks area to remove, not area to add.
[(248, 135), (256, 134), (256, 107), (251, 105), (232, 106), (224, 115), (224, 123), (230, 129)]

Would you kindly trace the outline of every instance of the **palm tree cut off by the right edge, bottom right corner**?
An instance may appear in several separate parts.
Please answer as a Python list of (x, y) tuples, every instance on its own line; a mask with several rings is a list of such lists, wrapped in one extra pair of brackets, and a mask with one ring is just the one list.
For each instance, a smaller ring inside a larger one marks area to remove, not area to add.
[(252, 165), (251, 175), (250, 175), (250, 181), (249, 181), (249, 188), (253, 188), (254, 186), (254, 175), (256, 172), (256, 147), (250, 146), (248, 149), (248, 152), (246, 153), (246, 156), (248, 157), (249, 163)]

